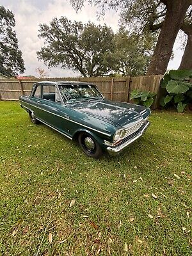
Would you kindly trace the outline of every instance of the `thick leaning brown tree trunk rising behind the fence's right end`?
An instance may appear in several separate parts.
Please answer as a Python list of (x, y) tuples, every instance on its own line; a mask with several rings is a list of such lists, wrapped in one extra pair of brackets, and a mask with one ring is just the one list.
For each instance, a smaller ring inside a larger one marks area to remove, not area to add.
[(166, 68), (172, 56), (175, 38), (179, 32), (191, 0), (163, 0), (166, 4), (166, 17), (157, 40), (156, 49), (147, 75), (159, 75), (166, 72)]

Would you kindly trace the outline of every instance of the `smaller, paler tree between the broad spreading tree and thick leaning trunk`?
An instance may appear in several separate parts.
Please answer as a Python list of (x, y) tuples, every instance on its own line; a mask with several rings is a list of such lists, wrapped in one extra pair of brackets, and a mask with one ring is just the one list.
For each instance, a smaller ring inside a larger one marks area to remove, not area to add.
[(115, 35), (114, 70), (123, 76), (146, 74), (154, 42), (154, 36), (151, 34), (138, 36), (136, 33), (130, 34), (120, 29)]

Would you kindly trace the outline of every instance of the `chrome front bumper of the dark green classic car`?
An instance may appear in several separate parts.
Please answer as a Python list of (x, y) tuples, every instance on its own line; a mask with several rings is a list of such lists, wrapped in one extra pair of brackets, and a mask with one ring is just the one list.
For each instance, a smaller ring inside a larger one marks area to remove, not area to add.
[(149, 125), (150, 125), (150, 122), (147, 121), (145, 126), (141, 129), (141, 131), (137, 132), (134, 137), (131, 137), (130, 140), (123, 142), (121, 145), (116, 147), (107, 147), (108, 153), (111, 156), (116, 156), (117, 154), (119, 154), (122, 150), (124, 150), (125, 147), (127, 147), (133, 141), (140, 138), (140, 136), (143, 134), (143, 132), (145, 132), (145, 130), (148, 128)]

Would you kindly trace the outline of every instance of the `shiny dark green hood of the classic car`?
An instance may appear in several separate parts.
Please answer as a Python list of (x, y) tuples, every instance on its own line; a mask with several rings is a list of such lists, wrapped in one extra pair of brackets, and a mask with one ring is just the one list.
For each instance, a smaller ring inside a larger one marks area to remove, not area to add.
[(71, 106), (72, 109), (94, 116), (106, 122), (113, 122), (125, 127), (132, 122), (137, 122), (150, 115), (150, 109), (135, 104), (115, 102), (109, 100), (90, 100), (78, 102)]

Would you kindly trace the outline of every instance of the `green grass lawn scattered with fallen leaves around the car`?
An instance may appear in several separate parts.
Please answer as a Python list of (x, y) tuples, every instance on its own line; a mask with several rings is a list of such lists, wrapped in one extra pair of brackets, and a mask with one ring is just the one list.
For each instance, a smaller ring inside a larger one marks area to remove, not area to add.
[(19, 102), (0, 117), (0, 255), (192, 254), (190, 113), (154, 111), (143, 137), (99, 160)]

